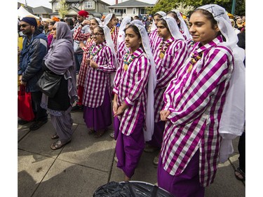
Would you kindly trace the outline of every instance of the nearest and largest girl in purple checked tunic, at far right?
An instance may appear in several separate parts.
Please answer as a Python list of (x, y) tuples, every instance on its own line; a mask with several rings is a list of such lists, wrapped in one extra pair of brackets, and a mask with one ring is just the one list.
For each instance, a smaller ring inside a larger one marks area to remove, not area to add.
[(220, 6), (197, 8), (189, 24), (196, 43), (163, 96), (165, 106), (160, 114), (166, 125), (158, 185), (175, 196), (199, 197), (204, 196), (204, 186), (213, 183), (217, 171), (220, 119), (238, 47), (227, 13)]

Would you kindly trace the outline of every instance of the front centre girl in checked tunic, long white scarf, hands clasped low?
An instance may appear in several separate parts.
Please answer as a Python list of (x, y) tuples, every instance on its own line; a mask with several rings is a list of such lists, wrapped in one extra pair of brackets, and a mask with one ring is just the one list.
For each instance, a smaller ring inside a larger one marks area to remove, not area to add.
[(126, 29), (126, 47), (114, 78), (114, 128), (117, 167), (123, 170), (124, 180), (133, 176), (154, 129), (154, 86), (156, 76), (149, 39), (144, 26), (131, 24)]

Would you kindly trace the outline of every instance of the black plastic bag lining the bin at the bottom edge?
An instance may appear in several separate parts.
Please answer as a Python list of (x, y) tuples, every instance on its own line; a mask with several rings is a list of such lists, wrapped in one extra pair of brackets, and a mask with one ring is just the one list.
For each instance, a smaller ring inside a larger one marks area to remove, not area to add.
[(146, 182), (109, 182), (100, 186), (93, 197), (175, 197), (159, 186)]

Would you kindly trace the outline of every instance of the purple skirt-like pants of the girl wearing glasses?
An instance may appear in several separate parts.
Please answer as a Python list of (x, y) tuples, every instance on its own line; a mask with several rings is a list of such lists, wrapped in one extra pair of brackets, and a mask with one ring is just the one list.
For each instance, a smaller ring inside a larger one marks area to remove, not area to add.
[(102, 105), (100, 107), (84, 106), (83, 118), (87, 127), (95, 131), (106, 129), (112, 124), (112, 104), (107, 88)]

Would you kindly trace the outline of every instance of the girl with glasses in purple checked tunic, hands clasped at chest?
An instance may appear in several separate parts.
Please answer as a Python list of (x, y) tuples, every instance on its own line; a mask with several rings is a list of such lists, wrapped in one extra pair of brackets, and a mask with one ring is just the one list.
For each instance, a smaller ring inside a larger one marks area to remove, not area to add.
[(112, 124), (110, 74), (116, 72), (116, 57), (109, 28), (95, 27), (87, 59), (83, 93), (83, 118), (90, 133), (101, 137)]

